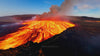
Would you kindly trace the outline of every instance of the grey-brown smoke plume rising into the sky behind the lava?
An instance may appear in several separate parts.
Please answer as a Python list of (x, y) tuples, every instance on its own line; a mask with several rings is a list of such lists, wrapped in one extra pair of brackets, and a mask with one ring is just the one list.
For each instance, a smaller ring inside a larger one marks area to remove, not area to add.
[(47, 16), (63, 16), (70, 14), (72, 11), (72, 8), (74, 6), (75, 0), (64, 0), (64, 2), (61, 4), (61, 6), (52, 5), (50, 8), (50, 12), (45, 12), (41, 15), (41, 17), (47, 17)]

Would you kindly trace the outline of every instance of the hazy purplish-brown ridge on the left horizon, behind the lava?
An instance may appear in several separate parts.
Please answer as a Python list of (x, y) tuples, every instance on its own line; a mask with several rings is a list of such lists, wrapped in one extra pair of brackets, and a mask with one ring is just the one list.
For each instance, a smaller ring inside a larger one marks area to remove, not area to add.
[(16, 23), (16, 22), (20, 22), (20, 21), (24, 21), (24, 20), (30, 20), (30, 19), (32, 19), (32, 17), (34, 17), (36, 15), (37, 14), (13, 15), (13, 16), (0, 17), (0, 25)]

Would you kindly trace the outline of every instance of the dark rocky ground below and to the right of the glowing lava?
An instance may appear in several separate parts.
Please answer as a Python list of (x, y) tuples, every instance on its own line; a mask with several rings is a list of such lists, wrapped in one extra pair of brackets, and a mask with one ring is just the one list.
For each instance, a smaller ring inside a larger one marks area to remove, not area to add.
[(76, 24), (75, 27), (39, 44), (27, 42), (13, 49), (0, 50), (0, 56), (100, 56), (100, 22), (95, 22), (100, 19), (70, 18), (74, 19), (70, 20)]

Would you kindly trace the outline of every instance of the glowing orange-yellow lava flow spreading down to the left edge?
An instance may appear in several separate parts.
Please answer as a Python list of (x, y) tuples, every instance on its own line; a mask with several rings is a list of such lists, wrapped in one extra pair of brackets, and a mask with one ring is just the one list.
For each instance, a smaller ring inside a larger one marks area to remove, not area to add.
[(20, 27), (18, 31), (7, 34), (0, 41), (0, 49), (15, 48), (28, 41), (40, 43), (48, 38), (60, 34), (69, 27), (75, 25), (66, 21), (57, 20), (30, 20), (22, 23), (23, 27)]

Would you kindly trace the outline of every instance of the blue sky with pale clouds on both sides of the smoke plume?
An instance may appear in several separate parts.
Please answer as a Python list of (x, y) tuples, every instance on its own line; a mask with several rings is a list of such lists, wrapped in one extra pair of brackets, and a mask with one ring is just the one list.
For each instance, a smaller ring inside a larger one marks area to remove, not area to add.
[[(0, 0), (0, 16), (42, 14), (51, 5), (60, 6), (64, 0)], [(100, 0), (76, 0), (72, 14), (100, 18)]]

